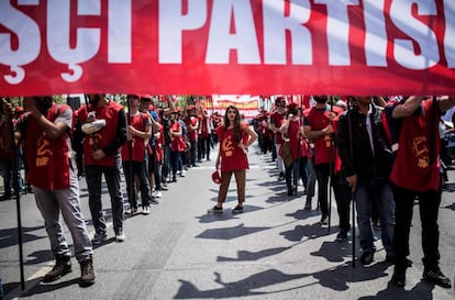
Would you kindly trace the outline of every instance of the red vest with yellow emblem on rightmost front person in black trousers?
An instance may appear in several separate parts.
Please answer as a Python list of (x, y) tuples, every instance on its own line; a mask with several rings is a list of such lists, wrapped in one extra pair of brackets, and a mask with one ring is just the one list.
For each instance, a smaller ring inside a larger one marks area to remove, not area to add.
[[(398, 138), (397, 157), (390, 174), (390, 180), (402, 188), (414, 191), (440, 189), (440, 159), (430, 163), (430, 147), (440, 153), (440, 134), (437, 126), (431, 124), (432, 100), (422, 102), (423, 114), (404, 118)], [(433, 122), (440, 120), (440, 113)], [(431, 133), (431, 131), (434, 131)], [(429, 145), (429, 137), (434, 134), (434, 145)]]

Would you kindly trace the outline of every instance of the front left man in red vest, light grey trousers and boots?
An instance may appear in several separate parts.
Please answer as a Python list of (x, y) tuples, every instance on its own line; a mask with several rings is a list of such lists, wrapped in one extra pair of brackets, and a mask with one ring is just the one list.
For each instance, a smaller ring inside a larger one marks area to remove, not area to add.
[(44, 281), (57, 280), (71, 271), (71, 251), (59, 219), (62, 212), (80, 264), (79, 285), (90, 286), (96, 280), (93, 252), (80, 212), (79, 182), (70, 142), (73, 111), (68, 105), (53, 103), (52, 97), (26, 97), (24, 103), (30, 114), (18, 127), (25, 141), (27, 177), (56, 260)]

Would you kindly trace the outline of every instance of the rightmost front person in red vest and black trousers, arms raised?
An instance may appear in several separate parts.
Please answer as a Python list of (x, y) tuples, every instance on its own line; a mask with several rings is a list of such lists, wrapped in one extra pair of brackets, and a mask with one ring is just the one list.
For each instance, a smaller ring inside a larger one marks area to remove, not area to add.
[(440, 269), (437, 215), (442, 197), (439, 122), (441, 113), (455, 105), (455, 97), (403, 98), (386, 107), (387, 120), (397, 130), (396, 158), (390, 173), (396, 202), (393, 248), (396, 264), (391, 282), (406, 285), (409, 234), (415, 199), (422, 223), (423, 279), (443, 288), (451, 280)]

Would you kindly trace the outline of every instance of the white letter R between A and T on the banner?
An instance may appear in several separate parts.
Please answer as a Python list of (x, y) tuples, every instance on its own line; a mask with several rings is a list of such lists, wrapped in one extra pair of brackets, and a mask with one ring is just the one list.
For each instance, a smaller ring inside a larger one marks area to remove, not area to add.
[(264, 20), (264, 63), (270, 65), (286, 64), (286, 32), (291, 36), (291, 55), (293, 65), (311, 65), (313, 48), (311, 34), (302, 24), (311, 14), (308, 0), (291, 0), (290, 14), (285, 16), (282, 2), (263, 1)]

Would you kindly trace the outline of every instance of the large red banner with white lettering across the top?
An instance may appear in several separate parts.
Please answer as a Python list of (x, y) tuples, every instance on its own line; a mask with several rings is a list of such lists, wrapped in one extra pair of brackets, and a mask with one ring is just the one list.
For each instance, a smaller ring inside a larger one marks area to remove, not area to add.
[(0, 93), (455, 95), (453, 0), (1, 0)]

